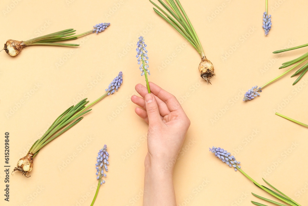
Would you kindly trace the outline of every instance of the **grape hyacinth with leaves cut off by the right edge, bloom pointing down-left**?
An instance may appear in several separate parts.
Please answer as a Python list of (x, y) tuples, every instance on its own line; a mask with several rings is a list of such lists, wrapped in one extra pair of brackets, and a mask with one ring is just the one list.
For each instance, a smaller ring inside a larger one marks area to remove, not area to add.
[[(290, 50), (294, 50), (294, 49), (298, 49), (298, 48), (302, 48), (302, 47), (306, 47), (308, 46), (308, 44), (303, 44), (301, 46), (297, 46), (297, 47), (292, 47), (292, 48), (288, 48), (288, 49), (282, 49), (282, 50), (278, 50), (273, 52), (274, 54), (277, 53), (282, 53), (282, 52), (286, 52), (286, 51), (290, 51)], [(244, 99), (243, 101), (247, 101), (247, 100), (251, 100), (254, 99), (257, 96), (260, 96), (260, 92), (262, 91), (261, 89), (263, 89), (265, 86), (269, 85), (270, 83), (276, 81), (277, 79), (281, 78), (282, 76), (284, 76), (285, 74), (289, 73), (291, 70), (293, 70), (294, 68), (298, 67), (299, 65), (301, 65), (302, 63), (304, 63), (305, 61), (308, 60), (308, 52), (303, 54), (302, 56), (291, 60), (291, 61), (287, 61), (285, 63), (282, 64), (281, 67), (279, 67), (279, 69), (282, 68), (286, 68), (288, 66), (293, 65), (290, 69), (288, 69), (287, 71), (285, 71), (284, 73), (280, 74), (278, 77), (270, 80), (269, 82), (265, 83), (263, 86), (261, 87), (257, 87), (257, 86), (253, 86), (252, 89), (248, 90), (248, 92), (246, 92), (246, 94), (244, 94)], [(295, 82), (293, 83), (293, 85), (295, 85), (299, 80), (301, 80), (301, 78), (306, 74), (306, 72), (308, 71), (308, 62), (306, 62), (305, 65), (303, 65), (300, 69), (298, 69), (291, 77), (294, 77), (300, 73), (299, 77), (295, 80)]]

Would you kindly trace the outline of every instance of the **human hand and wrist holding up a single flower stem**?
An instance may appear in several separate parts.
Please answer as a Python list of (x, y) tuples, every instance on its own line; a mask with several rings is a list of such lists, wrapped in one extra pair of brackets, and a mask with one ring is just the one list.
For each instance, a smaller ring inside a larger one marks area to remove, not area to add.
[[(175, 96), (149, 82), (151, 93), (145, 86), (136, 85), (141, 95), (132, 96), (132, 102), (140, 106), (135, 112), (149, 124), (148, 154), (144, 177), (144, 205), (176, 205), (172, 183), (173, 166), (183, 145), (190, 120)], [(157, 198), (160, 197), (160, 198)]]

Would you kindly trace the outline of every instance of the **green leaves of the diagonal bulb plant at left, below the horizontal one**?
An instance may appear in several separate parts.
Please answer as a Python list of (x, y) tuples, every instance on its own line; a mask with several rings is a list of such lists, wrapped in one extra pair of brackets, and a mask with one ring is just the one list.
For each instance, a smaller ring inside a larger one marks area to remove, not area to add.
[[(61, 135), (63, 132), (73, 127), (75, 124), (77, 124), (80, 120), (83, 119), (83, 117), (81, 117), (82, 115), (92, 110), (92, 109), (89, 109), (87, 111), (84, 111), (87, 108), (85, 107), (85, 105), (89, 102), (89, 101), (86, 101), (86, 99), (81, 100), (75, 106), (73, 105), (69, 107), (54, 121), (54, 123), (51, 124), (51, 126), (43, 134), (43, 136), (39, 140), (37, 140), (30, 148), (29, 152), (34, 154), (33, 157), (39, 152), (39, 150), (43, 146), (45, 146), (47, 143), (49, 143), (50, 141), (52, 141), (53, 139)], [(74, 120), (76, 121), (70, 124)], [(64, 128), (64, 129), (58, 132), (61, 128)]]

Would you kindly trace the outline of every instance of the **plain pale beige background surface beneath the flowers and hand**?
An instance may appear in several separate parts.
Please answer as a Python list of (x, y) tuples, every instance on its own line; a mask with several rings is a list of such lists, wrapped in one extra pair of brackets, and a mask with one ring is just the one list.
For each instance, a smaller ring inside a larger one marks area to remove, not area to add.
[[(306, 53), (302, 48), (272, 54), (307, 43), (307, 1), (269, 1), (273, 27), (266, 37), (261, 28), (263, 1), (181, 2), (214, 64), (213, 85), (199, 77), (198, 53), (156, 15), (148, 1), (1, 1), (2, 43), (67, 28), (79, 34), (96, 23), (111, 23), (98, 35), (70, 42), (81, 44), (78, 48), (33, 46), (17, 57), (0, 53), (0, 154), (3, 160), (4, 133), (10, 132), (10, 170), (76, 99), (97, 99), (119, 71), (124, 83), (40, 151), (30, 178), (18, 172), (10, 176), (9, 203), (3, 200), (4, 169), (0, 169), (0, 204), (90, 205), (97, 185), (95, 157), (107, 144), (109, 172), (95, 205), (142, 205), (148, 125), (130, 101), (136, 94), (134, 86), (145, 83), (135, 57), (140, 35), (148, 45), (150, 81), (174, 94), (192, 123), (174, 170), (177, 205), (252, 205), (250, 200), (259, 200), (250, 192), (268, 197), (215, 158), (208, 149), (213, 145), (232, 152), (259, 183), (265, 178), (298, 203), (308, 202), (308, 130), (274, 115), (277, 110), (308, 123), (308, 76), (292, 86), (291, 72), (257, 99), (242, 102), (243, 91), (282, 74), (285, 69), (278, 67), (283, 62)], [(20, 101), (23, 104), (16, 109)], [(13, 108), (16, 111), (7, 117)]]

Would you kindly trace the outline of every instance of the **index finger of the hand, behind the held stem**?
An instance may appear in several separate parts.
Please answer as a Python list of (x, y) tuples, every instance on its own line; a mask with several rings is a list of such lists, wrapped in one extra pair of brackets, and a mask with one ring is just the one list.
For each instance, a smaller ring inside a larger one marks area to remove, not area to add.
[(176, 97), (169, 92), (163, 90), (160, 86), (157, 86), (153, 82), (149, 82), (151, 92), (156, 95), (159, 99), (163, 100), (170, 111), (182, 110), (179, 101)]

